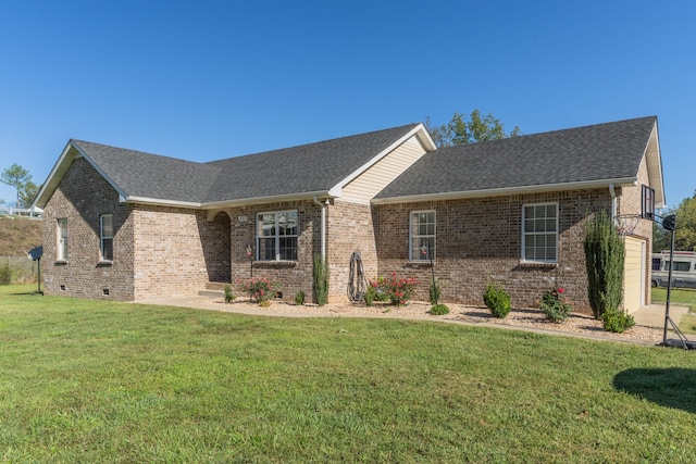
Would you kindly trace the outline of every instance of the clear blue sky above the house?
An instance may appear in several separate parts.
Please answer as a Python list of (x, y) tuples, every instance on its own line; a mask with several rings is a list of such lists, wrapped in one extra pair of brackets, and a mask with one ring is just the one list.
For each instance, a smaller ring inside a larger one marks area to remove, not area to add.
[(0, 168), (37, 184), (70, 138), (210, 161), (480, 109), (523, 134), (657, 115), (668, 204), (696, 190), (693, 0), (0, 0)]

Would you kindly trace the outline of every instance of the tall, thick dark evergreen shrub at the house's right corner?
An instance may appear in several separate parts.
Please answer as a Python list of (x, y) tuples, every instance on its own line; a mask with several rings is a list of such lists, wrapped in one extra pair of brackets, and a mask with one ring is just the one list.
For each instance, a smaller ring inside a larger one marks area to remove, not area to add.
[(596, 319), (607, 310), (620, 310), (623, 296), (625, 248), (617, 226), (599, 211), (585, 226), (587, 299)]

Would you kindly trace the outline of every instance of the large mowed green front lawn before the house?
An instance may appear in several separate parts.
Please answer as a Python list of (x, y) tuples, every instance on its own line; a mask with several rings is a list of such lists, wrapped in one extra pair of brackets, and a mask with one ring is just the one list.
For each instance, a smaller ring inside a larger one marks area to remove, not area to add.
[(0, 462), (693, 462), (696, 353), (0, 287)]

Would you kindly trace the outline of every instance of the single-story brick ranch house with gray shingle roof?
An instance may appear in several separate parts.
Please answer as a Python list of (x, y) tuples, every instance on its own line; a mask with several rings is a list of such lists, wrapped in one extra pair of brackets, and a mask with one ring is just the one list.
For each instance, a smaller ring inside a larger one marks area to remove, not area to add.
[[(588, 311), (584, 224), (646, 198), (664, 205), (654, 116), (443, 149), (412, 124), (208, 163), (70, 140), (35, 206), (47, 294), (195, 294), (253, 266), (293, 300), (319, 253), (340, 301), (359, 251), (368, 278), (419, 278), (418, 299), (432, 256), (445, 302), (496, 280), (517, 306), (562, 286)], [(650, 301), (651, 235), (639, 220), (625, 238), (630, 311)]]

